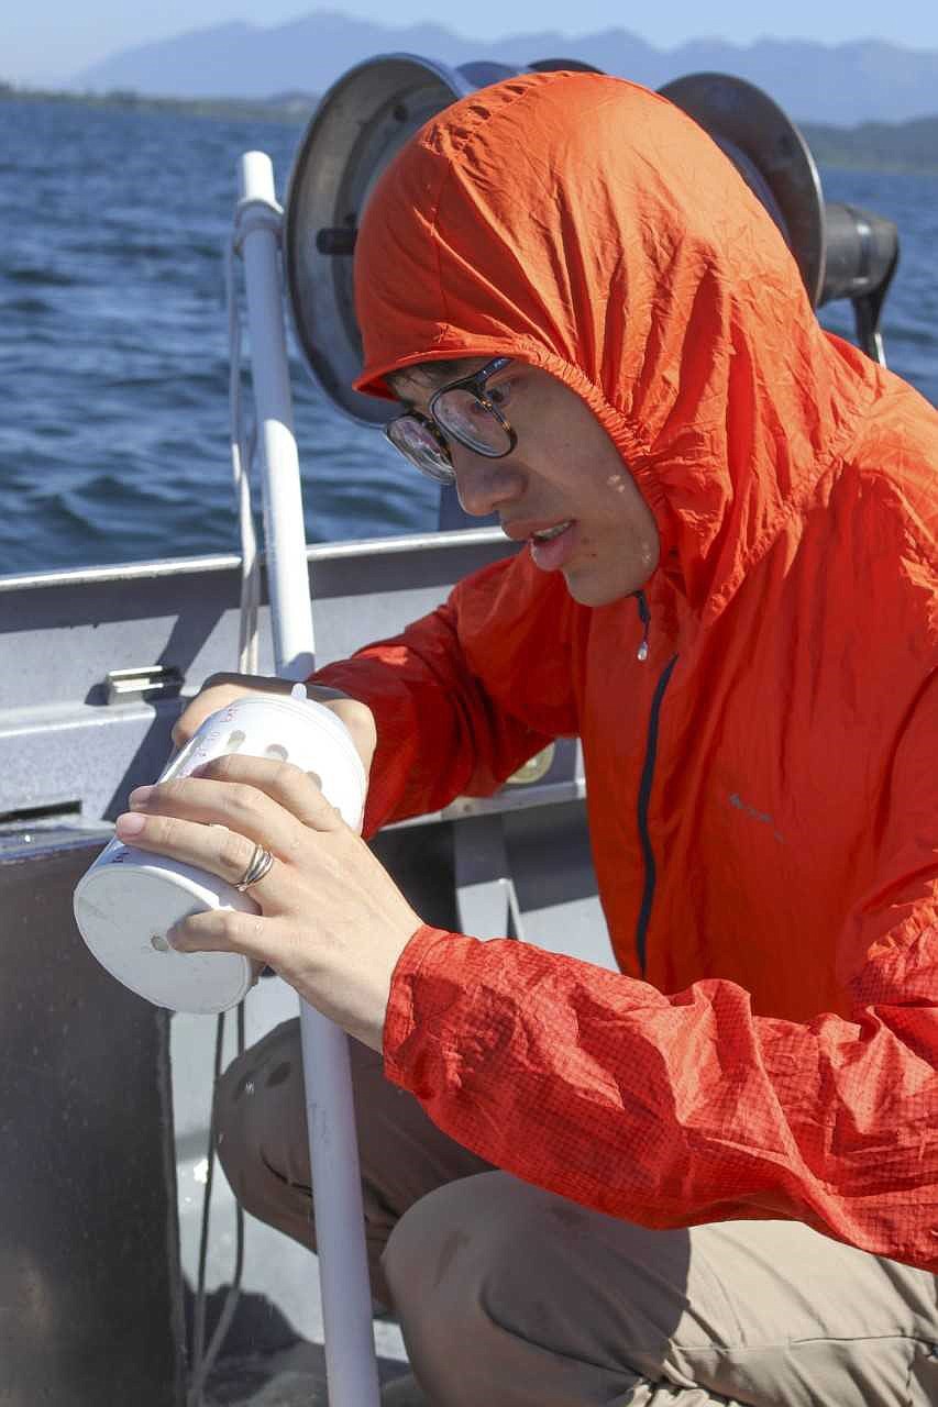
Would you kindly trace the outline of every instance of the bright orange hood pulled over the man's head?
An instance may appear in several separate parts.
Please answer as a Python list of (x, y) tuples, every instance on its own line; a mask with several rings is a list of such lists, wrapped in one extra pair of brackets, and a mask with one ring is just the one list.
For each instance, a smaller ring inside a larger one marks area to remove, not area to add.
[(508, 355), (583, 397), (718, 611), (855, 433), (872, 363), (824, 333), (718, 146), (623, 79), (534, 73), (428, 122), (355, 252), (365, 366)]

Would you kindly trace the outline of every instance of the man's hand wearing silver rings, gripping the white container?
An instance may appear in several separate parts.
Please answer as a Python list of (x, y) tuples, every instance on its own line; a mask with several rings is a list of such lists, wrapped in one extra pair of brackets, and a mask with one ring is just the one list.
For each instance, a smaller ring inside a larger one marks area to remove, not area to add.
[(423, 920), (308, 772), (231, 753), (137, 788), (130, 805), (117, 820), (121, 840), (230, 884), (255, 841), (273, 855), (249, 889), (259, 915), (196, 913), (169, 934), (173, 947), (268, 964), (324, 1016), (382, 1048), (392, 974)]

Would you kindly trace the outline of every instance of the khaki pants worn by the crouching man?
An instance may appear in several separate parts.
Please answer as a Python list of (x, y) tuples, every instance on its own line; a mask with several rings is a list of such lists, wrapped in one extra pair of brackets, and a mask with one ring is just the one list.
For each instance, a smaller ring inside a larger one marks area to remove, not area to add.
[[(351, 1045), (372, 1286), (434, 1407), (937, 1407), (934, 1275), (793, 1221), (589, 1211), (466, 1152)], [(225, 1072), (217, 1127), (244, 1206), (314, 1248), (297, 1021)]]

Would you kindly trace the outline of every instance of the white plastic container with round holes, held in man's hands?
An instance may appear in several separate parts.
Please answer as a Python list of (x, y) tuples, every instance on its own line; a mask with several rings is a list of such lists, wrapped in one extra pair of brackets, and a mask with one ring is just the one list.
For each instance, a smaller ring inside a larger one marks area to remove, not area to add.
[[(365, 768), (341, 719), (306, 696), (244, 695), (211, 713), (159, 781), (187, 777), (225, 753), (294, 763), (311, 772), (325, 799), (358, 829), (365, 803)], [(177, 953), (168, 930), (208, 909), (258, 913), (249, 892), (217, 875), (165, 855), (125, 846), (117, 837), (75, 889), (75, 920), (89, 948), (111, 976), (173, 1012), (224, 1012), (254, 985), (258, 969), (237, 953)]]

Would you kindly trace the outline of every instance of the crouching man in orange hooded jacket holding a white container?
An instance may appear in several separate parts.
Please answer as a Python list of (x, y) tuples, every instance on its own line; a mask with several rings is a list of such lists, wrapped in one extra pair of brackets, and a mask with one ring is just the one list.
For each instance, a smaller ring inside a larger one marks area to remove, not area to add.
[[(317, 677), (366, 756), (376, 725), (365, 833), (579, 734), (623, 971), (425, 927), (308, 778), (246, 757), (134, 801), (135, 843), (275, 855), (262, 919), (177, 944), (270, 962), (361, 1041), (373, 1286), (427, 1400), (934, 1403), (934, 412), (615, 79), (430, 122), (355, 272), (392, 439), (527, 540)], [(293, 1027), (248, 1052), (220, 1152), (313, 1244), (299, 1068)]]

